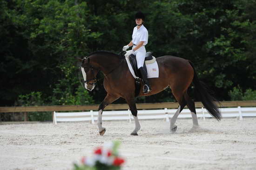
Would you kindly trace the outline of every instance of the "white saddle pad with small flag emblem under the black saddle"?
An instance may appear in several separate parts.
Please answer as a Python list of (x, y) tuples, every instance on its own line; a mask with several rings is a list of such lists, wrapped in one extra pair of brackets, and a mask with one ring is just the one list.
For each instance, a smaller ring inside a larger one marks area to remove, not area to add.
[[(153, 63), (145, 62), (146, 67), (147, 67), (147, 72), (148, 72), (148, 78), (158, 78), (159, 77), (159, 69), (158, 69), (158, 65), (157, 65), (157, 62), (155, 60), (155, 57), (153, 57), (153, 60), (155, 61)], [(129, 70), (132, 73), (133, 77), (134, 78), (138, 78), (137, 76), (135, 76), (133, 67), (132, 67), (132, 65), (130, 63), (130, 60), (128, 58), (126, 58), (126, 61), (127, 61)], [(147, 64), (147, 63), (150, 63), (150, 64)]]

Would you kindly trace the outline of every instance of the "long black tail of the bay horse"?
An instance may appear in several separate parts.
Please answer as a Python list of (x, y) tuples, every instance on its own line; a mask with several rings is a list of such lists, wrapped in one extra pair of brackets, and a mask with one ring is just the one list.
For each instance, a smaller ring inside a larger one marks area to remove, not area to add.
[(222, 118), (221, 112), (215, 102), (218, 102), (213, 96), (211, 96), (208, 92), (208, 89), (205, 87), (204, 83), (202, 83), (195, 72), (195, 67), (191, 61), (189, 61), (190, 65), (194, 69), (194, 78), (193, 83), (195, 86), (195, 93), (198, 98), (201, 100), (202, 104), (206, 108), (206, 110), (217, 120)]

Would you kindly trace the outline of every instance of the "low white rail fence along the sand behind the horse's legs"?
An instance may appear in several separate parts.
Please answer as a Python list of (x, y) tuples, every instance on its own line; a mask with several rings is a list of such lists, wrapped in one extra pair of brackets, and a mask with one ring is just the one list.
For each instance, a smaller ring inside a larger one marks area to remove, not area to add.
[[(138, 110), (139, 119), (163, 119), (169, 121), (177, 109), (158, 109), (158, 110)], [(255, 117), (256, 107), (233, 107), (233, 108), (220, 108), (222, 118), (236, 117), (242, 120), (243, 117)], [(212, 118), (205, 108), (196, 109), (197, 118)], [(97, 120), (98, 111), (85, 111), (85, 112), (55, 112), (54, 111), (54, 124), (57, 122), (73, 122), (73, 121), (90, 121), (94, 124)], [(178, 118), (191, 118), (189, 109), (183, 109)], [(131, 111), (103, 111), (102, 120), (127, 120), (131, 122), (133, 116)]]

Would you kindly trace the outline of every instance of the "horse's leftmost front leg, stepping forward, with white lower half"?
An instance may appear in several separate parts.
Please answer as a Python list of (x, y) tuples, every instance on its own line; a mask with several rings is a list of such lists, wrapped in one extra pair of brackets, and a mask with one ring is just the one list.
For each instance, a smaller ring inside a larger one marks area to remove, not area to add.
[(106, 128), (102, 127), (102, 111), (104, 110), (104, 108), (107, 105), (111, 104), (112, 102), (114, 102), (118, 98), (119, 97), (111, 96), (111, 95), (107, 94), (107, 96), (104, 98), (104, 100), (101, 102), (101, 105), (99, 106), (97, 125), (98, 125), (99, 133), (100, 133), (101, 136), (103, 136), (106, 132)]

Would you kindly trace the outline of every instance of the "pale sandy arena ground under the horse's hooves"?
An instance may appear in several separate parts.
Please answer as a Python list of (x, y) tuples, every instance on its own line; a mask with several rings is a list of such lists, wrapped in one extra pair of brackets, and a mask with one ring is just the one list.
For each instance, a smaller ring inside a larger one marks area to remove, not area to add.
[(178, 119), (175, 134), (163, 120), (140, 123), (130, 136), (133, 122), (105, 121), (103, 137), (88, 122), (0, 125), (0, 170), (72, 170), (113, 140), (121, 141), (122, 170), (256, 170), (256, 118), (199, 119), (195, 132), (191, 119)]

